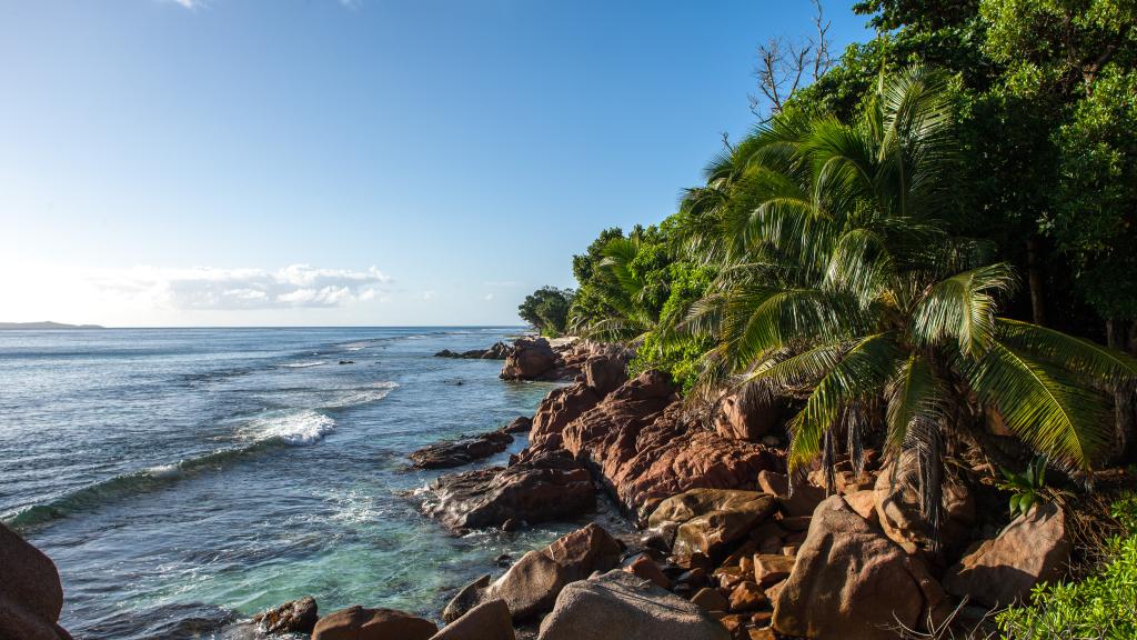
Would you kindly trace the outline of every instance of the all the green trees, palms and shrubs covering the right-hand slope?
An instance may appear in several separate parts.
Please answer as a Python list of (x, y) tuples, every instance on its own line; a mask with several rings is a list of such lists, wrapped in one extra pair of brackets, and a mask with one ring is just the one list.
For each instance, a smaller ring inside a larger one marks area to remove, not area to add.
[[(1137, 462), (1137, 2), (854, 10), (877, 38), (788, 98), (764, 88), (780, 98), (677, 213), (574, 256), (567, 330), (634, 344), (633, 372), (664, 369), (694, 402), (789, 402), (792, 467), (839, 446), (857, 463), (865, 438), (914, 449), (931, 522), (965, 451), (1040, 454), (1039, 481), (1082, 486)], [(990, 446), (991, 425), (1026, 448)], [(1132, 616), (1105, 618), (1131, 613), (1134, 541), (1003, 629), (1128, 637)]]

